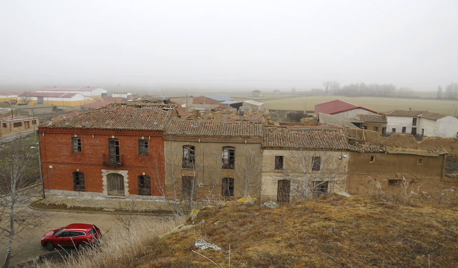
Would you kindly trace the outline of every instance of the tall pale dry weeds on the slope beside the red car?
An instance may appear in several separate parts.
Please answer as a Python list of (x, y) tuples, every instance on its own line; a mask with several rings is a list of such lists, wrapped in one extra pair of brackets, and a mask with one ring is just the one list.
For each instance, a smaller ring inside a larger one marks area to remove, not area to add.
[(44, 266), (50, 268), (75, 267), (134, 267), (136, 261), (151, 254), (152, 245), (159, 240), (159, 235), (183, 224), (185, 219), (168, 218), (162, 221), (150, 221), (132, 227), (129, 231), (121, 230), (113, 233), (108, 240), (100, 245), (73, 252), (64, 257), (62, 262), (45, 261)]

